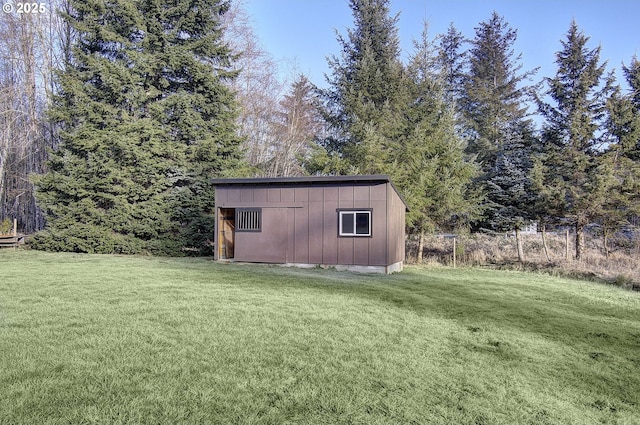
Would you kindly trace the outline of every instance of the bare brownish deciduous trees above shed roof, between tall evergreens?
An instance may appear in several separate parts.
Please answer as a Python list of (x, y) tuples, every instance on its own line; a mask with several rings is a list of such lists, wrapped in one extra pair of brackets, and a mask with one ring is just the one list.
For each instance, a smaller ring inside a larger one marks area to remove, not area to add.
[(285, 94), (287, 78), (260, 45), (242, 2), (234, 3), (224, 19), (226, 41), (240, 52), (232, 88), (240, 103), (238, 124), (248, 163), (255, 176), (304, 174), (300, 159), (322, 128), (314, 87), (299, 75)]

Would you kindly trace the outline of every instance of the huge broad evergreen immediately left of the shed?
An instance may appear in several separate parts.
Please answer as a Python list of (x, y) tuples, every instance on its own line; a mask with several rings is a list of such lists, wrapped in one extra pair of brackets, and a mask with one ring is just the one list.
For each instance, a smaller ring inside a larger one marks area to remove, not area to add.
[(61, 144), (37, 179), (37, 247), (210, 250), (210, 179), (239, 161), (219, 0), (72, 1), (75, 31), (50, 115)]

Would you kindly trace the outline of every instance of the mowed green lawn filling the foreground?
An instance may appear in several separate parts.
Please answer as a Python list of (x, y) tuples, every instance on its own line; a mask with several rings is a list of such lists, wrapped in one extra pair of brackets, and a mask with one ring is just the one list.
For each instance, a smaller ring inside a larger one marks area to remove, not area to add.
[(640, 423), (640, 294), (0, 251), (0, 423)]

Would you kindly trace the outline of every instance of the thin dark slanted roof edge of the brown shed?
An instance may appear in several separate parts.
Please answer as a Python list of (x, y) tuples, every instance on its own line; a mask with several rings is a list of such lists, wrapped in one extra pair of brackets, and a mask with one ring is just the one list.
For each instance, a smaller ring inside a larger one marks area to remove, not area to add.
[(363, 183), (389, 183), (396, 191), (407, 211), (407, 202), (386, 174), (351, 175), (351, 176), (307, 176), (307, 177), (265, 177), (265, 178), (239, 178), (239, 179), (213, 179), (214, 186), (309, 186), (327, 184), (363, 184)]

